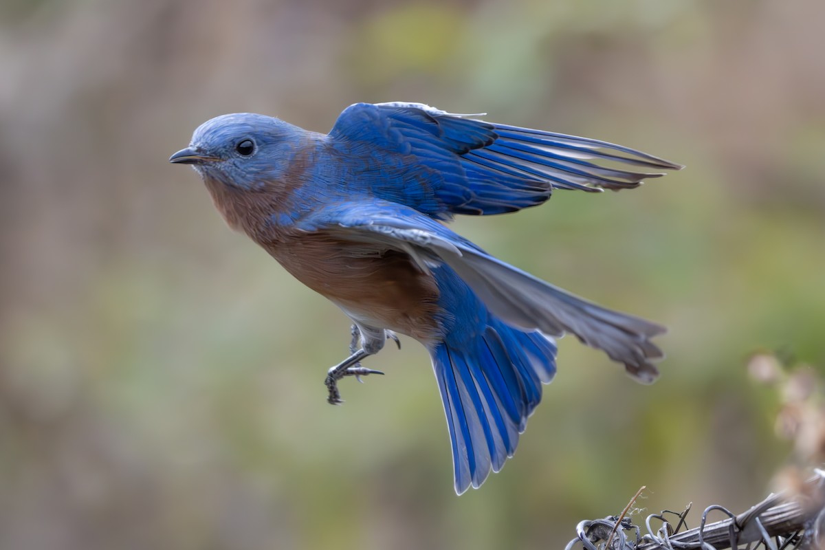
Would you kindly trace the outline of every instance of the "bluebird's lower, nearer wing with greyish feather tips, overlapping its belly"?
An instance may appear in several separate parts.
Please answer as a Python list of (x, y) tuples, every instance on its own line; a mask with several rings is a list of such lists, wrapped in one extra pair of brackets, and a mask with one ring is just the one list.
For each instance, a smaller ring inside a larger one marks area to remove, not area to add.
[(602, 308), (497, 260), (415, 209), (383, 200), (333, 204), (303, 219), (299, 228), (405, 251), (422, 270), (446, 264), (503, 322), (549, 336), (570, 332), (624, 364), (640, 382), (658, 376), (653, 361), (662, 351), (650, 339), (664, 327)]

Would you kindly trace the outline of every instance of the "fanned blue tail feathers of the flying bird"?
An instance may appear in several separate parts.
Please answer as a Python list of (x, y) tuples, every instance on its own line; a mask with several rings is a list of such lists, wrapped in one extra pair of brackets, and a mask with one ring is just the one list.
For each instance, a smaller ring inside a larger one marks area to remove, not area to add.
[[(466, 333), (465, 333), (466, 334)], [(450, 430), (455, 492), (481, 487), (516, 452), (519, 434), (556, 372), (556, 345), (539, 331), (492, 315), (473, 336), (448, 335), (431, 350)]]

